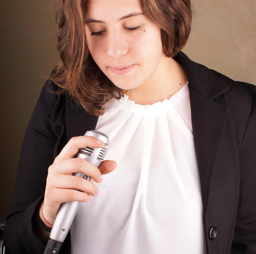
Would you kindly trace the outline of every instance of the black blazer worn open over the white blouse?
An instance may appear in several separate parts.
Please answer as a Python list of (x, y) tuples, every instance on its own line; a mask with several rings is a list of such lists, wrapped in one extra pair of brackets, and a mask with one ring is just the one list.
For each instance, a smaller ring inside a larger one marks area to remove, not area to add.
[[(207, 254), (256, 254), (256, 86), (233, 81), (183, 52), (175, 60), (189, 80)], [(7, 253), (44, 253), (33, 226), (48, 167), (67, 141), (97, 124), (98, 117), (68, 95), (48, 89), (58, 87), (44, 84), (23, 140), (3, 236)], [(70, 254), (70, 244), (69, 232), (59, 253)]]

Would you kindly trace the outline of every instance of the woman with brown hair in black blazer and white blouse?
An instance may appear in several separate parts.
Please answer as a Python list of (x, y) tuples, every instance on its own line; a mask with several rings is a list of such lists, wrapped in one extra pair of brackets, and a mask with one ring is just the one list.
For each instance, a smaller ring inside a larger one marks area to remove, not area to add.
[[(23, 141), (6, 248), (43, 253), (60, 204), (81, 201), (61, 254), (256, 253), (256, 87), (181, 52), (190, 1), (58, 4), (61, 60)], [(87, 130), (110, 138), (99, 168), (74, 158), (103, 145)]]

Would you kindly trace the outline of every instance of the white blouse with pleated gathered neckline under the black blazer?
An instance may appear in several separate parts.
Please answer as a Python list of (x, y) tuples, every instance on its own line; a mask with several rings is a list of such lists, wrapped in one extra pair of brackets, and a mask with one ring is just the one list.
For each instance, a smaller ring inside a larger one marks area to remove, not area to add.
[(70, 228), (72, 254), (204, 254), (204, 226), (188, 83), (140, 105), (112, 99), (96, 130), (117, 167), (94, 184)]

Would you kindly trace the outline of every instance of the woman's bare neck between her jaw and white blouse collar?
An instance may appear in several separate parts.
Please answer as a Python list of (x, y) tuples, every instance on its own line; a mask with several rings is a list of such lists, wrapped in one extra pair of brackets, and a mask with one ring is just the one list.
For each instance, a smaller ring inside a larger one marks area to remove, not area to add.
[(151, 105), (166, 98), (169, 99), (186, 83), (186, 73), (182, 66), (173, 58), (163, 56), (156, 71), (148, 80), (124, 94), (136, 104)]

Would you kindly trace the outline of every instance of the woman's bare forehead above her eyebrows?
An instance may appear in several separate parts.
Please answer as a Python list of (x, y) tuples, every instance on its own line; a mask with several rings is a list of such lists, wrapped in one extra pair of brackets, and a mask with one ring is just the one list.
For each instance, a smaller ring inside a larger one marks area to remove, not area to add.
[(136, 11), (143, 12), (140, 0), (89, 0), (86, 17), (111, 20)]

